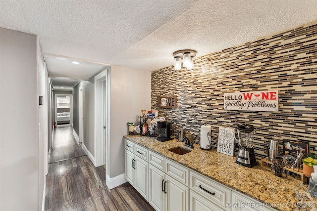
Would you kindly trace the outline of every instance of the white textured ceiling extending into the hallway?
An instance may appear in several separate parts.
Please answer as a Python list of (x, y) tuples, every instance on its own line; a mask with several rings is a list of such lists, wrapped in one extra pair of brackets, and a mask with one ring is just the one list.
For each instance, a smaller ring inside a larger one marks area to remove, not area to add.
[[(38, 35), (47, 55), (146, 71), (316, 20), (317, 0), (0, 0), (0, 27)], [(54, 77), (98, 72), (45, 60)]]

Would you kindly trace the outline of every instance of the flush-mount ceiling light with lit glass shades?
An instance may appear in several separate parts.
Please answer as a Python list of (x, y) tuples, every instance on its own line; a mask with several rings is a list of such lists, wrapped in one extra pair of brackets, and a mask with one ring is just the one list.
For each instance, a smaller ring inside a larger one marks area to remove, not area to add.
[(188, 70), (194, 69), (194, 57), (196, 56), (196, 50), (177, 50), (173, 53), (174, 56), (174, 69), (181, 70), (181, 60), (183, 59), (183, 67), (186, 67)]

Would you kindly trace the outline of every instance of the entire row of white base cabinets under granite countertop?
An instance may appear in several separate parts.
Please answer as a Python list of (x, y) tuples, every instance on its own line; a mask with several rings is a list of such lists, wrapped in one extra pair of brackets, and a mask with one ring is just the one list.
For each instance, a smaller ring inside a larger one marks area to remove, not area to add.
[(127, 139), (125, 178), (157, 211), (274, 210)]

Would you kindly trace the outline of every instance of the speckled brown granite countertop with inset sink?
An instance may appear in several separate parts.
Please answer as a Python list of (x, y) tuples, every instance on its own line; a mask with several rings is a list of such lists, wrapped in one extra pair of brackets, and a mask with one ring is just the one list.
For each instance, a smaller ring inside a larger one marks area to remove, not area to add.
[(203, 150), (199, 144), (194, 144), (194, 149), (185, 147), (192, 150), (185, 155), (168, 151), (176, 146), (184, 147), (184, 142), (178, 139), (159, 142), (156, 137), (124, 137), (260, 202), (268, 203), (268, 207), (283, 211), (317, 210), (317, 199), (308, 193), (308, 185), (277, 177), (260, 164), (253, 168), (243, 167), (235, 163), (235, 156), (218, 153), (216, 149)]

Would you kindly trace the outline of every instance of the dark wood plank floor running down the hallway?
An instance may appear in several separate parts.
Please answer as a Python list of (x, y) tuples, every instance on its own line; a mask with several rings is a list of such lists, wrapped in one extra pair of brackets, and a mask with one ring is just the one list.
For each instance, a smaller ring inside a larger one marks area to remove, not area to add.
[[(81, 146), (75, 142), (71, 131), (72, 127), (55, 129), (51, 156), (55, 156), (56, 159), (49, 165), (45, 210), (153, 210), (129, 183), (108, 190), (105, 166), (95, 168), (87, 156), (81, 155)], [(58, 151), (58, 156), (54, 151)], [(63, 153), (65, 155), (62, 155)]]

